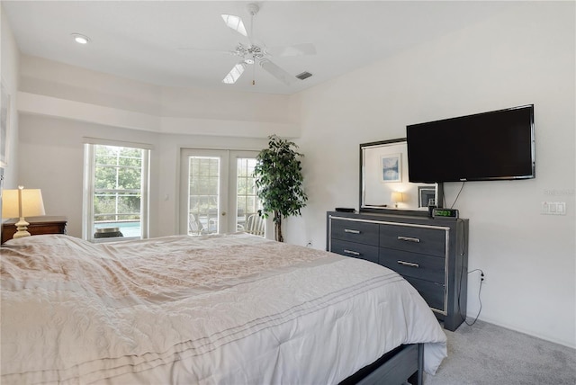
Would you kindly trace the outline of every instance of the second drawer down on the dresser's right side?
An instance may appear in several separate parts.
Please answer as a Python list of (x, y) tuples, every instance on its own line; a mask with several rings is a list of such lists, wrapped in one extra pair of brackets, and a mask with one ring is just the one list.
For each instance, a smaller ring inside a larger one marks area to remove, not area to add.
[(381, 247), (378, 263), (400, 273), (404, 277), (445, 283), (446, 259), (444, 257), (410, 253)]

